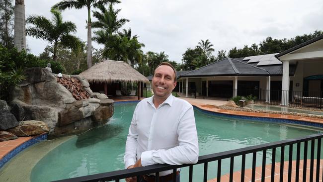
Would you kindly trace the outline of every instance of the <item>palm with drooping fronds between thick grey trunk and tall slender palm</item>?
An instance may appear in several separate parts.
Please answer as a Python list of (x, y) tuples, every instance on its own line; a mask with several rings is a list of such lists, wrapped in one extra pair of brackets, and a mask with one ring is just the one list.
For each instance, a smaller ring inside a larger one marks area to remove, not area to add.
[(61, 43), (64, 47), (69, 47), (75, 52), (81, 49), (81, 40), (71, 35), (75, 33), (77, 28), (71, 21), (64, 21), (60, 11), (52, 9), (52, 20), (44, 16), (33, 15), (26, 19), (26, 23), (32, 24), (26, 29), (28, 36), (47, 40), (53, 45), (53, 60), (57, 59), (58, 44)]

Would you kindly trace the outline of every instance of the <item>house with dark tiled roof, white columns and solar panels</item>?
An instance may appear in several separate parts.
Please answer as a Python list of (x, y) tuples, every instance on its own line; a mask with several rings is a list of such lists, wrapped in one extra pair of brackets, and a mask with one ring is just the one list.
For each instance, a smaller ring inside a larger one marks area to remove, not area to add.
[[(179, 91), (212, 97), (257, 96), (288, 105), (294, 96), (321, 98), (323, 35), (281, 53), (225, 58), (179, 75)], [(177, 84), (178, 85), (178, 84)]]

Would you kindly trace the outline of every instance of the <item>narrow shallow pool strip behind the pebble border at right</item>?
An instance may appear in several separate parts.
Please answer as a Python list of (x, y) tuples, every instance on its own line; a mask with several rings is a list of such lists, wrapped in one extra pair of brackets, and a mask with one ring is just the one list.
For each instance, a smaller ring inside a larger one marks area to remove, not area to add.
[(257, 105), (257, 104), (248, 104), (245, 107), (258, 109), (258, 110), (270, 110), (270, 111), (279, 111), (279, 112), (297, 112), (303, 114), (313, 114), (313, 115), (321, 115), (323, 116), (323, 112), (321, 111), (312, 111), (307, 109), (297, 109), (290, 107), (281, 107), (276, 105)]

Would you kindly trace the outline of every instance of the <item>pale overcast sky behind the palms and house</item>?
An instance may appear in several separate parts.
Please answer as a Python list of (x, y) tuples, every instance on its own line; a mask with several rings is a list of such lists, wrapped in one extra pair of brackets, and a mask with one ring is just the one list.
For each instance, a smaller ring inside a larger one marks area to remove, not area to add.
[[(26, 17), (51, 18), (50, 7), (61, 0), (25, 0)], [(130, 20), (122, 28), (146, 46), (144, 52), (165, 51), (169, 60), (181, 62), (187, 48), (203, 39), (214, 44), (215, 52), (259, 43), (266, 37), (292, 38), (323, 30), (322, 0), (121, 0), (119, 18)], [(76, 36), (86, 41), (86, 9), (63, 11), (73, 21)], [(92, 19), (93, 21), (93, 19)], [(27, 37), (31, 53), (39, 55), (49, 43)], [(92, 41), (94, 48), (103, 47)]]

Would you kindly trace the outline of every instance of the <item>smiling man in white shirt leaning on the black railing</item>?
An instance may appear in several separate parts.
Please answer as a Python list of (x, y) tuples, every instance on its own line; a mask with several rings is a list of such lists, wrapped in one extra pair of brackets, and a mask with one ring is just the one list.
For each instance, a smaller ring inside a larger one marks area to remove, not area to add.
[[(152, 80), (154, 95), (140, 101), (135, 109), (124, 156), (127, 169), (153, 164), (194, 164), (198, 161), (198, 141), (193, 106), (174, 97), (176, 72), (161, 63)], [(172, 181), (172, 170), (160, 173), (160, 182)], [(179, 182), (179, 172), (176, 181)], [(128, 178), (127, 182), (136, 182)], [(155, 182), (152, 175), (142, 182)]]

